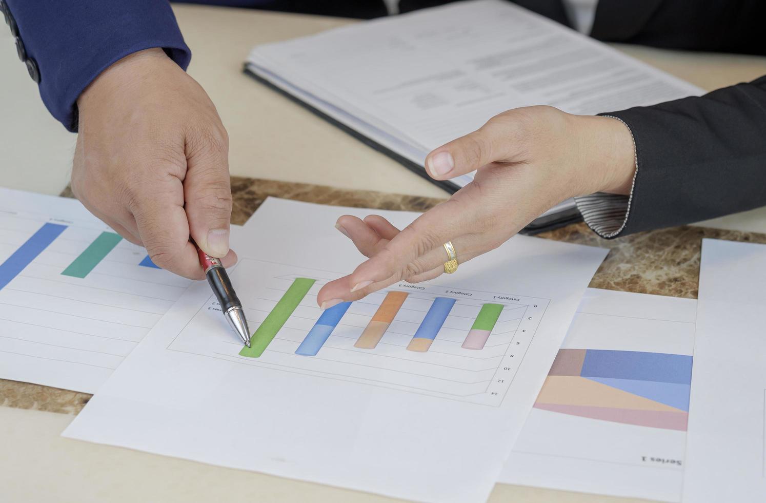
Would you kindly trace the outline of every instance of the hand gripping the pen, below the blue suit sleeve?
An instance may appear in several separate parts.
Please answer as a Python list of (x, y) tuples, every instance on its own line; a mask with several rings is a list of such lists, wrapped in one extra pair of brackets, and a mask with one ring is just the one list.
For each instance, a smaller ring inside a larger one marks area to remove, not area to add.
[(77, 100), (72, 190), (163, 269), (204, 278), (194, 238), (232, 265), (228, 135), (208, 95), (165, 53), (131, 54)]

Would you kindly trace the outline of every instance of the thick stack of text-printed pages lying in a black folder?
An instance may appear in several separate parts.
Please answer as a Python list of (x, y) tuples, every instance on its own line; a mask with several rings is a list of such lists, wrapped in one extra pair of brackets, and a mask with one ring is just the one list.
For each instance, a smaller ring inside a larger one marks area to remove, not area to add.
[[(545, 104), (594, 114), (702, 94), (501, 0), (457, 2), (260, 45), (245, 68), (423, 176), (430, 150), (505, 110)], [(454, 192), (472, 179), (440, 184)], [(545, 215), (560, 220), (552, 214), (573, 209), (568, 201)]]

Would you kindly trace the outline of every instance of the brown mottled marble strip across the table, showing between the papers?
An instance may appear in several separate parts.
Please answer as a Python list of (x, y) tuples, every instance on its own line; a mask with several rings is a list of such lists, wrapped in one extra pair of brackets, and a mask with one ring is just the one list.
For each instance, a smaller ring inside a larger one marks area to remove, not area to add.
[[(372, 191), (349, 191), (303, 183), (241, 177), (231, 179), (231, 189), (234, 196), (231, 222), (240, 225), (250, 218), (250, 215), (268, 196), (327, 205), (418, 212), (425, 211), (441, 201), (441, 199)], [(62, 195), (71, 196), (71, 193), (65, 190)], [(591, 281), (592, 288), (686, 298), (697, 297), (699, 251), (702, 238), (766, 242), (764, 234), (690, 226), (643, 232), (610, 241), (599, 238), (584, 223), (545, 232), (539, 237), (609, 248), (609, 255)], [(77, 414), (90, 396), (87, 393), (59, 390), (37, 384), (0, 380), (0, 405), (2, 406)]]

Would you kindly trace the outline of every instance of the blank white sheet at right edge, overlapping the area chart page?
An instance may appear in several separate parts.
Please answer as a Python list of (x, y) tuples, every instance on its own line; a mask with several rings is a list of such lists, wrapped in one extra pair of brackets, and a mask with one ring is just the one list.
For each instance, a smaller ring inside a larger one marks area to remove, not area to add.
[(702, 240), (683, 501), (764, 501), (766, 245)]

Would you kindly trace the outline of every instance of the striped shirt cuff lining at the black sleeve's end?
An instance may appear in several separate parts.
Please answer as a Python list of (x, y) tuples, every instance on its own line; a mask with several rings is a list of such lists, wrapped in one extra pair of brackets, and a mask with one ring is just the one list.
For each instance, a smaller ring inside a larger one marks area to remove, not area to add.
[[(617, 119), (627, 127), (630, 127), (620, 117), (606, 115)], [(633, 140), (633, 158), (635, 159), (636, 170), (633, 173), (633, 182), (630, 184), (630, 195), (607, 194), (597, 192), (590, 196), (575, 197), (575, 203), (580, 210), (583, 220), (597, 235), (602, 238), (616, 238), (623, 232), (627, 219), (630, 216), (630, 203), (633, 201), (633, 189), (636, 186), (636, 176), (638, 176), (638, 155), (636, 151), (636, 140), (633, 138), (633, 131), (630, 131), (630, 139)]]

